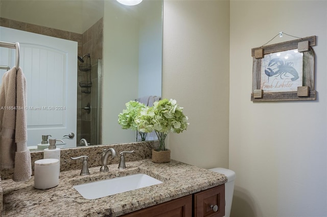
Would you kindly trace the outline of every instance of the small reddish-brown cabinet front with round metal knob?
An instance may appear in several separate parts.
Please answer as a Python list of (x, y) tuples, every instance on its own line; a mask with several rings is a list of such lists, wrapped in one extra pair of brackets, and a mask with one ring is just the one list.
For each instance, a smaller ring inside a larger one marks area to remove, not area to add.
[(225, 185), (194, 194), (194, 217), (225, 215)]

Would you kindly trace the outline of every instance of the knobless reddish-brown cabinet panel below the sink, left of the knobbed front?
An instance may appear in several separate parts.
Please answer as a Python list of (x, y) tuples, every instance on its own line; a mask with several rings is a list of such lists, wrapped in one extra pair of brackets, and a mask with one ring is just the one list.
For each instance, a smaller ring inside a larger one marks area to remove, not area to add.
[(190, 217), (192, 216), (192, 195), (161, 203), (123, 215), (124, 217)]

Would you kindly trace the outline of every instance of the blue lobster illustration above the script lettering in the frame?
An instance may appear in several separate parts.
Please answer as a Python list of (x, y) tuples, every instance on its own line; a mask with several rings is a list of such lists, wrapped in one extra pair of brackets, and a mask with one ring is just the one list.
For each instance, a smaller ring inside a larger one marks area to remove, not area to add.
[(281, 77), (281, 79), (284, 79), (282, 77), (282, 75), (284, 75), (285, 77), (288, 77), (287, 73), (289, 73), (293, 76), (291, 78), (292, 81), (297, 80), (299, 78), (298, 73), (297, 73), (296, 69), (293, 67), (292, 62), (286, 62), (286, 61), (284, 62), (280, 58), (274, 58), (269, 62), (268, 66), (269, 67), (275, 66), (275, 68), (273, 68), (273, 69), (272, 68), (265, 69), (265, 74), (268, 77), (271, 77), (274, 75), (276, 75), (276, 77), (277, 77), (279, 75)]

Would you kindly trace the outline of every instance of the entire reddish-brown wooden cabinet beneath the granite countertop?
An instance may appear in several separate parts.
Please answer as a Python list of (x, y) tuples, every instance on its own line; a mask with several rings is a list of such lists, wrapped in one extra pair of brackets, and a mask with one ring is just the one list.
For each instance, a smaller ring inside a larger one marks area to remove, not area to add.
[(123, 217), (222, 217), (225, 215), (225, 185), (171, 200)]

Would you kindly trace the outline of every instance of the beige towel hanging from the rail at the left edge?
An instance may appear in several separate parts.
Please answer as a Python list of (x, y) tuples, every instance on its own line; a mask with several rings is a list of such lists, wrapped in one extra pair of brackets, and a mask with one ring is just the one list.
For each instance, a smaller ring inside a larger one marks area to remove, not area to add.
[(1, 168), (14, 168), (14, 181), (31, 178), (31, 154), (27, 148), (26, 78), (13, 67), (2, 78), (0, 89)]

